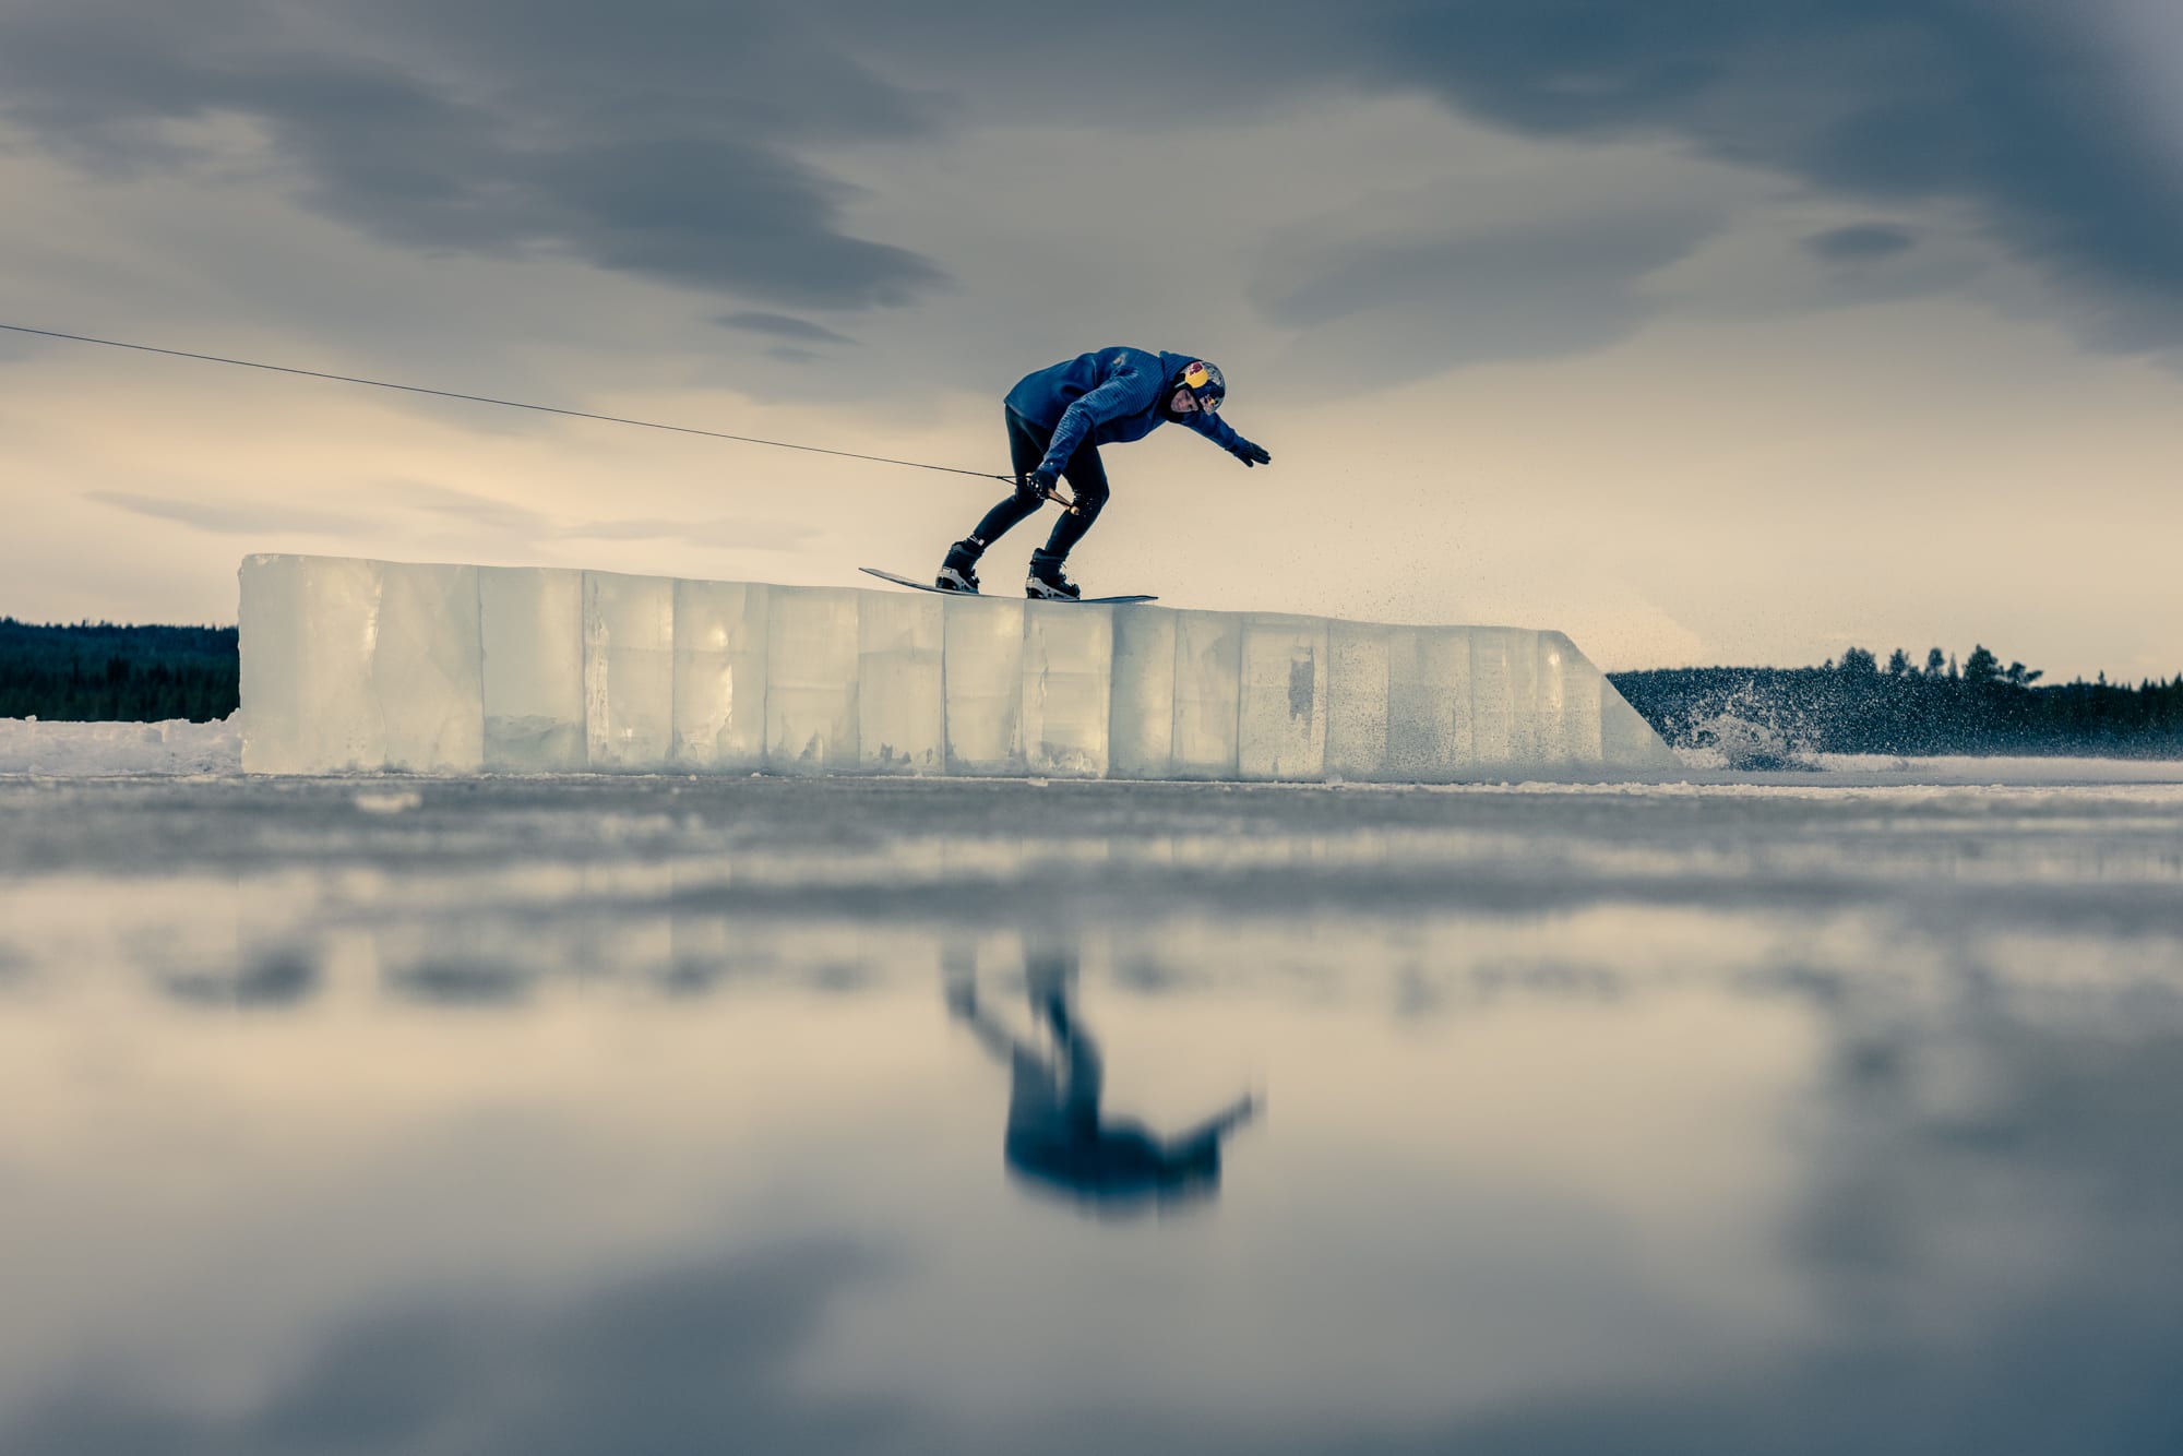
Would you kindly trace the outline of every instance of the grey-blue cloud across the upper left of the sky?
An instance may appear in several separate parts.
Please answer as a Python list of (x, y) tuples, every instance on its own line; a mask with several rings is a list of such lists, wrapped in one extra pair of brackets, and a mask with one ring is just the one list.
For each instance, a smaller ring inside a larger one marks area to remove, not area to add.
[(845, 231), (849, 188), (795, 148), (919, 135), (923, 105), (792, 15), (33, 0), (0, 15), (0, 116), (109, 170), (172, 168), (188, 124), (247, 118), (308, 201), (402, 244), (797, 308), (915, 301), (941, 268)]

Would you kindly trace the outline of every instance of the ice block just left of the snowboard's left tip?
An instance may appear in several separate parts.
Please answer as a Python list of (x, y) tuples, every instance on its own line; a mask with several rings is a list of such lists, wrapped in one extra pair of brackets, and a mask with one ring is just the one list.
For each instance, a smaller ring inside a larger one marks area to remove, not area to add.
[(878, 592), (773, 587), (766, 640), (766, 768), (858, 768), (858, 602)]

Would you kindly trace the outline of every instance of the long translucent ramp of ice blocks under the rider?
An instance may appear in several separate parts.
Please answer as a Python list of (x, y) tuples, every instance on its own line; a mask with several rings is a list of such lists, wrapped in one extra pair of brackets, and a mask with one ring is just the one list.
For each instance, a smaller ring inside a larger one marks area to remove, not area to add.
[(1674, 768), (1561, 633), (242, 561), (249, 773), (1447, 784)]

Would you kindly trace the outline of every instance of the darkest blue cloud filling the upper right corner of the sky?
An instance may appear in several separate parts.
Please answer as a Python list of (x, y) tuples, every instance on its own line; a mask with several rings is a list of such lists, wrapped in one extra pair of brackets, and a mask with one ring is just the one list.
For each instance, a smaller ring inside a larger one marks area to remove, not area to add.
[(1456, 0), (1377, 11), (1382, 74), (1554, 138), (1674, 138), (1873, 199), (1978, 205), (2013, 253), (2183, 343), (2183, 175), (2067, 7), (2019, 0)]

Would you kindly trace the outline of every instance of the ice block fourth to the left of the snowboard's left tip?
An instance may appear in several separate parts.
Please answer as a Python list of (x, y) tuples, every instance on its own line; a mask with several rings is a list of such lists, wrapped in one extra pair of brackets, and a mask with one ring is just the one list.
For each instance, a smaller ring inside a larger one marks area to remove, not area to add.
[[(583, 696), (583, 572), (480, 565), (485, 766), (578, 773), (589, 766)], [(255, 712), (242, 694), (242, 712)]]

